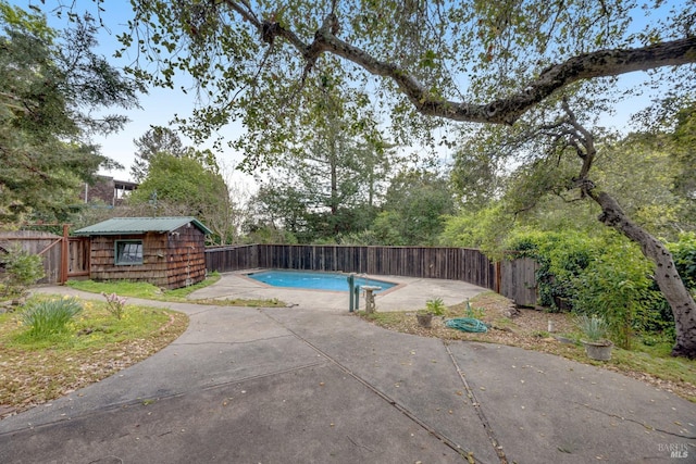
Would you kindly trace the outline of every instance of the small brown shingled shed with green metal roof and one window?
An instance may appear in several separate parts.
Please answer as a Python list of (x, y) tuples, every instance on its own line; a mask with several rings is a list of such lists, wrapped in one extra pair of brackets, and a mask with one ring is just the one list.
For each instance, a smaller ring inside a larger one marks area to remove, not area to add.
[(174, 289), (206, 278), (206, 235), (195, 217), (114, 217), (75, 230), (90, 238), (94, 280), (147, 281)]

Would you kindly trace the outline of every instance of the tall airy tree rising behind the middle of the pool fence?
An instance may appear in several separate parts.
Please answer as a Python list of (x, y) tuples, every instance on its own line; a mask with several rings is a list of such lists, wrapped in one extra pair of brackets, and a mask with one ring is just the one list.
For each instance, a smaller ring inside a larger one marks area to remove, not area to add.
[[(321, 89), (298, 125), (303, 143), (275, 156), (271, 180), (254, 198), (266, 223), (282, 220), (301, 242), (365, 229), (395, 164), (374, 131), (371, 111), (341, 93), (337, 83), (325, 80)], [(312, 114), (322, 117), (310, 121)]]

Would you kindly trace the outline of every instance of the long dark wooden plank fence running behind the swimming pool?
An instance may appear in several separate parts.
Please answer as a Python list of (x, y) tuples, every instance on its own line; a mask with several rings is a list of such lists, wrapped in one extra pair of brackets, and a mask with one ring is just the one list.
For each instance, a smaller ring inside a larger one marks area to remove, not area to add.
[(263, 267), (462, 280), (520, 305), (536, 304), (536, 262), (495, 263), (481, 251), (465, 248), (250, 244), (208, 248), (206, 264), (219, 272)]

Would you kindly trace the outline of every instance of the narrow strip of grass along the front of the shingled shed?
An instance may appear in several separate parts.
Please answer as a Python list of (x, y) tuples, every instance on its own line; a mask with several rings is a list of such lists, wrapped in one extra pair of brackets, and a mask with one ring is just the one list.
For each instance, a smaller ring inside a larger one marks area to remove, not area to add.
[(152, 284), (144, 281), (129, 280), (111, 280), (111, 281), (94, 281), (94, 280), (69, 280), (66, 286), (76, 290), (89, 291), (91, 293), (116, 293), (120, 297), (142, 298), (146, 300), (169, 301), (174, 303), (196, 303), (196, 304), (213, 304), (220, 306), (251, 306), (251, 308), (281, 308), (287, 304), (277, 299), (259, 300), (259, 299), (199, 299), (189, 300), (187, 297), (196, 290), (211, 286), (220, 280), (220, 274), (212, 273), (196, 285), (182, 287), (174, 290), (161, 289)]

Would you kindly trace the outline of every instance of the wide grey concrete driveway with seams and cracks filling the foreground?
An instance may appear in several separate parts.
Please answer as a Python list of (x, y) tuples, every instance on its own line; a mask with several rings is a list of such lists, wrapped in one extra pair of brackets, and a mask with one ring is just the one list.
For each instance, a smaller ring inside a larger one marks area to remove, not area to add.
[(149, 302), (188, 314), (186, 333), (110, 378), (0, 421), (0, 462), (696, 462), (696, 404), (674, 394), (311, 303)]

